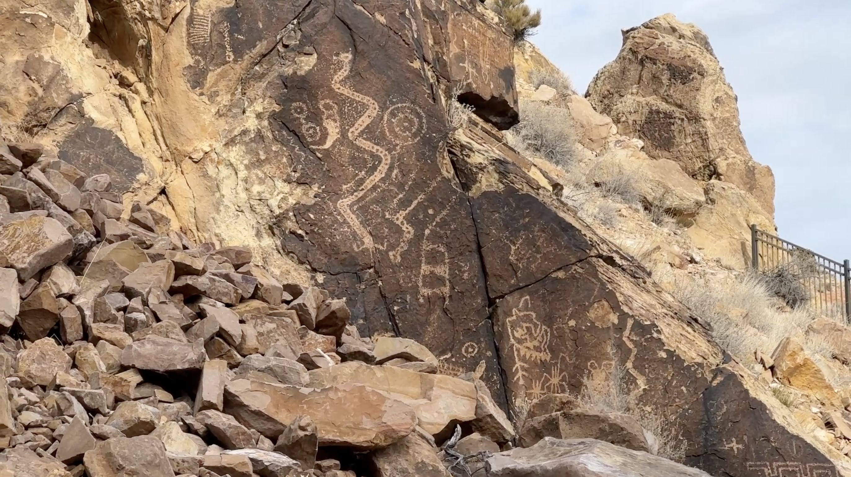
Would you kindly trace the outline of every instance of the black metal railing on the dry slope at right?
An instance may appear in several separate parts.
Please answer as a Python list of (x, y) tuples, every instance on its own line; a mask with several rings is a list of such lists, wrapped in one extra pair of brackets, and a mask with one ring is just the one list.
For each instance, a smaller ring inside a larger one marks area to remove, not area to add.
[(757, 272), (793, 269), (808, 295), (808, 304), (822, 314), (851, 320), (851, 267), (792, 244), (751, 224), (751, 267)]

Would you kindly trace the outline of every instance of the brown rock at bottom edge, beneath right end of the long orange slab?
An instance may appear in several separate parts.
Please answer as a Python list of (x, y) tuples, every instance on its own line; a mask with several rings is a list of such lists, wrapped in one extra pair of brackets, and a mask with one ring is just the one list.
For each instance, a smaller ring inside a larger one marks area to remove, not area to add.
[(437, 457), (437, 449), (412, 432), (403, 440), (372, 453), (378, 477), (451, 477)]

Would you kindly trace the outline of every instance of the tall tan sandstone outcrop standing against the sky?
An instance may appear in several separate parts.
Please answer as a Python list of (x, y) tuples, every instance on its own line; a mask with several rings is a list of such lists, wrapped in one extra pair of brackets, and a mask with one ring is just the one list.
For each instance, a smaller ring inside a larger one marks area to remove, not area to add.
[(748, 153), (736, 96), (704, 32), (665, 14), (623, 36), (618, 58), (585, 93), (594, 109), (654, 159), (674, 160), (701, 181), (731, 182), (773, 217), (774, 175)]

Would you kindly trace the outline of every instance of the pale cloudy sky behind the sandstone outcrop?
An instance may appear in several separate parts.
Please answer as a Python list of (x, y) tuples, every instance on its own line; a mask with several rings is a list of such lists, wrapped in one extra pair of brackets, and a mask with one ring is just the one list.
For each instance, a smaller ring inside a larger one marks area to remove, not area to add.
[(780, 237), (851, 259), (851, 1), (527, 0), (531, 38), (580, 93), (620, 29), (672, 13), (699, 26), (739, 96), (742, 132), (776, 180)]

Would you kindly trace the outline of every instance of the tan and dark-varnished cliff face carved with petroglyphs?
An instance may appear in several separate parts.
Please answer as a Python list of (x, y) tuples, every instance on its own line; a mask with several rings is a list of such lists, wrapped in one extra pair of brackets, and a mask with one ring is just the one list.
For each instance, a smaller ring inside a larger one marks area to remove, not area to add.
[[(515, 416), (623, 367), (688, 463), (837, 474), (837, 452), (505, 146), (511, 37), (477, 1), (56, 0), (2, 15), (4, 126), (109, 172), (198, 243), (247, 244), (283, 282), (321, 283), (361, 334), (414, 338), (444, 374), (477, 370)], [(483, 119), (454, 132), (450, 91)]]

